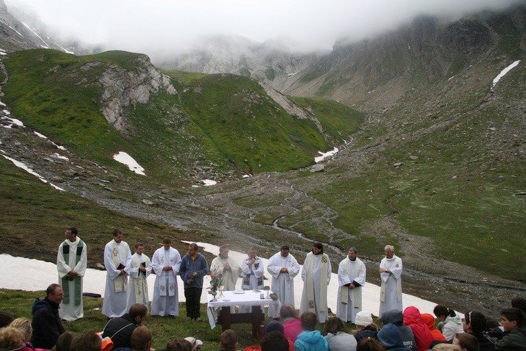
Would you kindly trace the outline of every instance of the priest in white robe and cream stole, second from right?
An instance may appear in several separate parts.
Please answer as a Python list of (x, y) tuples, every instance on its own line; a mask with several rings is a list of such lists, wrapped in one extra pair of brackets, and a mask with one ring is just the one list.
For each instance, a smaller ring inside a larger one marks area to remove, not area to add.
[(338, 266), (338, 299), (336, 315), (344, 322), (354, 323), (362, 310), (362, 286), (365, 285), (365, 264), (356, 256), (356, 248)]

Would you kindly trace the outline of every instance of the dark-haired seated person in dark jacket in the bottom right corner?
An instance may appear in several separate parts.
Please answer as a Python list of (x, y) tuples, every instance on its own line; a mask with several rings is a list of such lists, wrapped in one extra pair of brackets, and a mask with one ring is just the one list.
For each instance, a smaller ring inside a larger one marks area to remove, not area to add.
[(526, 316), (519, 308), (501, 310), (504, 336), (495, 342), (495, 350), (526, 350)]

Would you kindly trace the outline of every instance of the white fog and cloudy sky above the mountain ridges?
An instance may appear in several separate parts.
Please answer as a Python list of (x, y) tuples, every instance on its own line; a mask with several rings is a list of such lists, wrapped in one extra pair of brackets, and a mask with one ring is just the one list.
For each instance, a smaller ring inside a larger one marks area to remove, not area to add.
[(342, 38), (360, 40), (397, 28), (417, 15), (457, 19), (524, 0), (67, 1), (6, 0), (9, 10), (44, 23), (63, 40), (104, 50), (149, 54), (154, 60), (195, 48), (202, 37), (244, 36), (290, 50), (331, 50)]

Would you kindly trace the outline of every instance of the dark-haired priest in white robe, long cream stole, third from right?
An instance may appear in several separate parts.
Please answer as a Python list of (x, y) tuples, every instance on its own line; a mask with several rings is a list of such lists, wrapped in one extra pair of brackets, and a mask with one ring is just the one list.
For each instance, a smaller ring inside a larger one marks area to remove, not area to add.
[(312, 251), (307, 253), (301, 279), (303, 294), (301, 295), (300, 315), (303, 312), (313, 312), (318, 322), (325, 323), (329, 315), (327, 306), (327, 286), (331, 281), (331, 260), (323, 253), (323, 245), (315, 242)]

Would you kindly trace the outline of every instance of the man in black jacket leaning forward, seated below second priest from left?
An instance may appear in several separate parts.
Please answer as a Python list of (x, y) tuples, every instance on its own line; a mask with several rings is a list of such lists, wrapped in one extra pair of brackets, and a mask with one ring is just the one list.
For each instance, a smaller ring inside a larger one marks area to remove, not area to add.
[(102, 338), (109, 337), (113, 341), (113, 349), (130, 348), (131, 333), (135, 328), (142, 326), (146, 319), (148, 309), (143, 304), (133, 304), (128, 313), (122, 317), (110, 319), (104, 327)]

